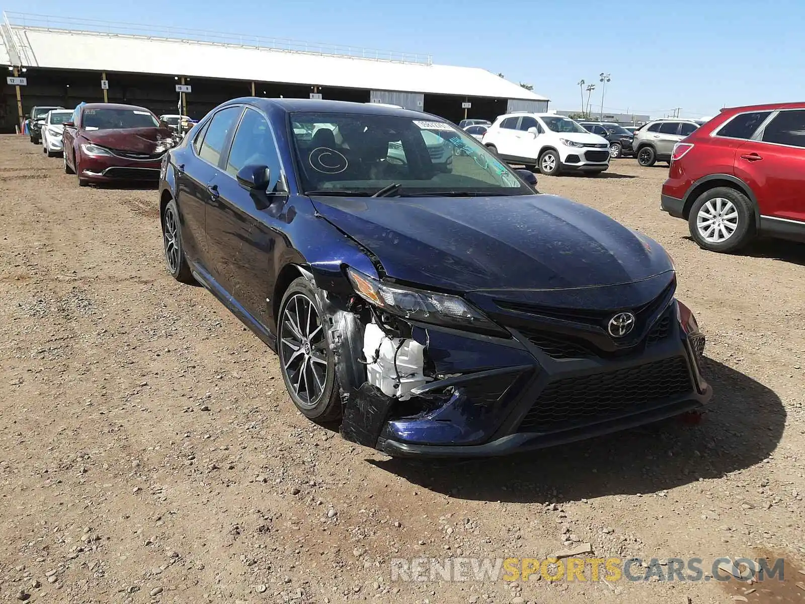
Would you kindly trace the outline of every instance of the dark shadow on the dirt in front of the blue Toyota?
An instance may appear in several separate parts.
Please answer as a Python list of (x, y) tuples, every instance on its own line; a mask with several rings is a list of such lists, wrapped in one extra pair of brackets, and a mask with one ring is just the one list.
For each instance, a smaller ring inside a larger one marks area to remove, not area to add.
[(706, 368), (716, 394), (699, 423), (675, 418), (511, 457), (369, 462), (438, 493), (513, 503), (650, 494), (720, 478), (766, 459), (786, 412), (774, 391), (749, 376), (712, 359)]

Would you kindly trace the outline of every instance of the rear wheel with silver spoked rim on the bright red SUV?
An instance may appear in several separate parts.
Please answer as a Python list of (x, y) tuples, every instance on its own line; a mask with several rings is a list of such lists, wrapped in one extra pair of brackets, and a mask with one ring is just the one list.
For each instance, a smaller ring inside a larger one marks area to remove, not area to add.
[(691, 237), (705, 250), (740, 250), (754, 236), (752, 202), (734, 188), (711, 188), (693, 203), (687, 225)]

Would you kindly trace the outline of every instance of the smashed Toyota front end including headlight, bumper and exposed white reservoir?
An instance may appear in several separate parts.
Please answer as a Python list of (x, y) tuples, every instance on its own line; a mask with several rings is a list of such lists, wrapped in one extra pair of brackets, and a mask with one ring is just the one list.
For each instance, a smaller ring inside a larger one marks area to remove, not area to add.
[(486, 457), (559, 445), (695, 410), (712, 394), (701, 371), (704, 336), (673, 297), (675, 281), (642, 304), (634, 338), (612, 343), (574, 316), (512, 312), (516, 305), (499, 300), (496, 311), (484, 296), (468, 296), (470, 304), (346, 273), (352, 293), (323, 301), (341, 435), (390, 455)]

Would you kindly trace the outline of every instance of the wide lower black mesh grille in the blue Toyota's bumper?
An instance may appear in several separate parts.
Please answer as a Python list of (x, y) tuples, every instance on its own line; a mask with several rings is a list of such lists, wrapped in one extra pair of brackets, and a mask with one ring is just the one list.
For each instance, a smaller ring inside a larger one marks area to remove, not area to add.
[(545, 387), (523, 418), (519, 432), (543, 432), (606, 420), (649, 409), (692, 390), (683, 357), (559, 379)]

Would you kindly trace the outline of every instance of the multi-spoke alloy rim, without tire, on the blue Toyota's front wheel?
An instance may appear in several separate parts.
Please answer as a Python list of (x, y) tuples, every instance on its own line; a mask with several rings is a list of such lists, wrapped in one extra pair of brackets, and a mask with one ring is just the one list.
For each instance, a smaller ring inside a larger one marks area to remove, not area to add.
[(279, 325), (280, 361), (297, 402), (312, 408), (328, 378), (327, 338), (316, 306), (304, 294), (285, 305)]

